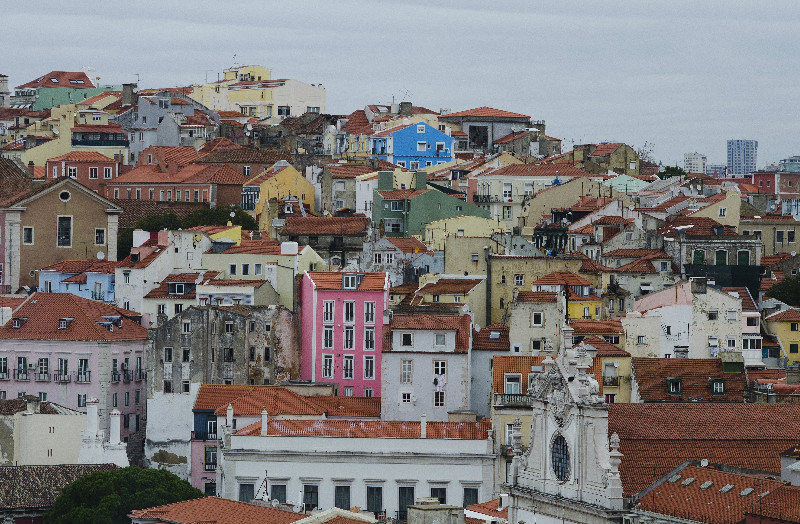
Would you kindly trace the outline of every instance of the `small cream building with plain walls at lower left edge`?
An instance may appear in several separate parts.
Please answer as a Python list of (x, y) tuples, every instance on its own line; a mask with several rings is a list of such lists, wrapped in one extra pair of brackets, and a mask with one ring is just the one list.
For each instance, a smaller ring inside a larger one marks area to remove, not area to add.
[(34, 396), (0, 400), (0, 466), (77, 464), (85, 426), (85, 413)]

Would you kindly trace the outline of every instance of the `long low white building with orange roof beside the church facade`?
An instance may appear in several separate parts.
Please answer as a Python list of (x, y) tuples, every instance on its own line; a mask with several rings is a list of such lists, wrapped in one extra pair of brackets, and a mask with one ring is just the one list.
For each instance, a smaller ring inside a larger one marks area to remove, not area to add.
[(261, 421), (225, 428), (220, 496), (285, 494), (305, 508), (360, 506), (405, 519), (419, 497), (462, 505), (492, 492), (491, 422)]

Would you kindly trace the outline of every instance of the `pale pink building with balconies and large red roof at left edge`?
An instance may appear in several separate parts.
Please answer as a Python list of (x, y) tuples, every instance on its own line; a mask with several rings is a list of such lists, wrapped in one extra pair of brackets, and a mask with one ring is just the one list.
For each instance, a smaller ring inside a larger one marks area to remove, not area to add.
[(71, 293), (34, 293), (0, 326), (0, 398), (38, 395), (79, 411), (99, 400), (100, 428), (144, 429), (147, 328), (141, 314)]

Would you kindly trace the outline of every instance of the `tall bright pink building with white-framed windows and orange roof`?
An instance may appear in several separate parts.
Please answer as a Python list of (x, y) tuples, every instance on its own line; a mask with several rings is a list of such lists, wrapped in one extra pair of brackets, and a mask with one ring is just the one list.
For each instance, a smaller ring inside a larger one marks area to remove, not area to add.
[(300, 377), (339, 384), (344, 396), (380, 395), (388, 297), (386, 273), (307, 271), (300, 287)]

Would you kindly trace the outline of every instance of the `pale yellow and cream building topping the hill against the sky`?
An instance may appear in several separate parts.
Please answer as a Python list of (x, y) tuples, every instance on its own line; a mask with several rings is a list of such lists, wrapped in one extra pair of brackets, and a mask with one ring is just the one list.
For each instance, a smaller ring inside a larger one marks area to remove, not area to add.
[(192, 86), (189, 95), (215, 111), (239, 111), (268, 124), (306, 112), (325, 113), (325, 87), (289, 78), (271, 79), (266, 67), (238, 66), (223, 71), (223, 78)]

